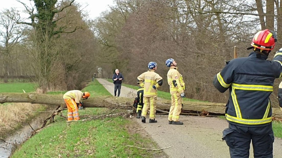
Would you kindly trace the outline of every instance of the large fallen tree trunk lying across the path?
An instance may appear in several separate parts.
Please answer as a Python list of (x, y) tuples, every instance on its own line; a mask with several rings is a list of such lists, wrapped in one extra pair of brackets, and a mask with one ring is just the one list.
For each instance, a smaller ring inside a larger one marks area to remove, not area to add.
[[(124, 107), (125, 109), (132, 109), (134, 98), (123, 98), (114, 96), (98, 96), (90, 97), (83, 100), (83, 107), (105, 107), (110, 109)], [(0, 93), (0, 103), (5, 102), (26, 102), (36, 104), (56, 105), (61, 108), (66, 108), (62, 96), (37, 94), (37, 93)], [(157, 109), (168, 111), (170, 109), (170, 100), (158, 100)], [(208, 103), (208, 102), (194, 102), (183, 101), (184, 111), (197, 111), (203, 113), (224, 114), (224, 103)], [(280, 109), (272, 108), (272, 116), (282, 118)]]

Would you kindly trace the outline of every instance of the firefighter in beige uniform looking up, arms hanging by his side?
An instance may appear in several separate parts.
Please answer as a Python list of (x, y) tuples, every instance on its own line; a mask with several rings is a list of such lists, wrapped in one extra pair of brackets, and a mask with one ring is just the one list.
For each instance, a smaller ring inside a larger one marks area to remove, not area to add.
[(183, 125), (179, 121), (181, 108), (183, 107), (182, 98), (185, 97), (184, 90), (186, 90), (185, 83), (183, 82), (182, 75), (178, 72), (176, 62), (173, 58), (166, 60), (166, 66), (169, 67), (168, 71), (168, 85), (171, 94), (171, 107), (168, 114), (168, 124)]

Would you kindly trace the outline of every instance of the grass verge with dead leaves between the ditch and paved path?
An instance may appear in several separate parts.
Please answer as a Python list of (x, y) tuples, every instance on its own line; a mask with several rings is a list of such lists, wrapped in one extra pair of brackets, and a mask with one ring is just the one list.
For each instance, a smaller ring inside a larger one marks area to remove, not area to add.
[[(91, 96), (110, 95), (97, 80), (82, 91), (89, 91)], [(81, 119), (83, 115), (107, 112), (109, 110), (103, 108), (79, 110)], [(66, 115), (66, 110), (63, 114)], [(157, 148), (148, 137), (129, 132), (128, 129), (138, 127), (128, 119), (117, 117), (66, 123), (65, 118), (57, 116), (55, 121), (24, 143), (12, 157), (163, 157), (162, 153), (125, 147)]]

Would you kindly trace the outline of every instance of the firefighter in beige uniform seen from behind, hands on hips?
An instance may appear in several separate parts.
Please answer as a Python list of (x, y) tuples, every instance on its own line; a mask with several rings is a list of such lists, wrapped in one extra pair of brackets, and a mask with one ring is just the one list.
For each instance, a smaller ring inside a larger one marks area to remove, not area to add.
[[(146, 123), (146, 115), (150, 109), (149, 123), (156, 123), (156, 106), (157, 106), (157, 88), (162, 85), (162, 77), (155, 73), (157, 70), (157, 63), (149, 62), (148, 64), (149, 71), (142, 73), (137, 77), (137, 83), (139, 86), (144, 86), (143, 94), (143, 109), (141, 121)], [(144, 84), (143, 84), (144, 81)]]

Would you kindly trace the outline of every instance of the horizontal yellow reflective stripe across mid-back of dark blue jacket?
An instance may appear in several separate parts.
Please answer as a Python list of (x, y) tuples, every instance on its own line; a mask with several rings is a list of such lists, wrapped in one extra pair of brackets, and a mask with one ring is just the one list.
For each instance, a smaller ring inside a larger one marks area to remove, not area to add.
[(251, 90), (251, 91), (273, 91), (273, 86), (268, 85), (243, 85), (232, 83), (232, 88), (241, 90)]

